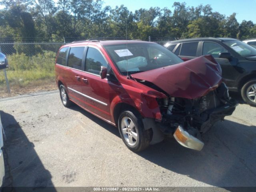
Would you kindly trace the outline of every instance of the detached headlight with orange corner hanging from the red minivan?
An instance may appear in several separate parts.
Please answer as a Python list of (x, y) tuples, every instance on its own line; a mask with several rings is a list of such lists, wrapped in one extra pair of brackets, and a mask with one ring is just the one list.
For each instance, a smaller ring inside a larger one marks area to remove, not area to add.
[(174, 132), (173, 136), (179, 144), (186, 148), (200, 151), (204, 147), (204, 143), (202, 141), (190, 135), (180, 125)]

